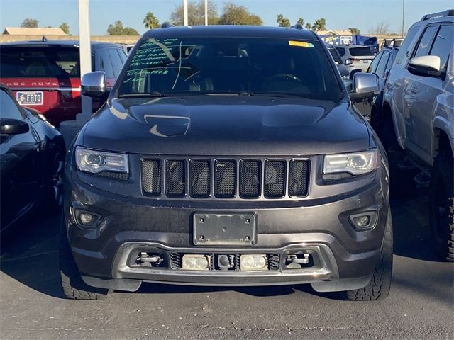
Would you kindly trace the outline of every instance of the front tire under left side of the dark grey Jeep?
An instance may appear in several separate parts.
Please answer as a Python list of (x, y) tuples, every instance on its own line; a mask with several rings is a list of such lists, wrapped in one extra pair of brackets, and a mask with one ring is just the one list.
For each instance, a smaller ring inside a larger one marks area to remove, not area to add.
[(102, 300), (111, 290), (94, 288), (82, 280), (66, 236), (65, 217), (60, 232), (60, 278), (63, 293), (72, 300)]

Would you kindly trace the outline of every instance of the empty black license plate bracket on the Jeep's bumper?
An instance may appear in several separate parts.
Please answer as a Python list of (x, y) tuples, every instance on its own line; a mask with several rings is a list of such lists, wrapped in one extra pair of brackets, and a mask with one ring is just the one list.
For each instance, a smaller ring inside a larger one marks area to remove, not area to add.
[(193, 241), (196, 246), (252, 246), (255, 244), (254, 214), (193, 215)]

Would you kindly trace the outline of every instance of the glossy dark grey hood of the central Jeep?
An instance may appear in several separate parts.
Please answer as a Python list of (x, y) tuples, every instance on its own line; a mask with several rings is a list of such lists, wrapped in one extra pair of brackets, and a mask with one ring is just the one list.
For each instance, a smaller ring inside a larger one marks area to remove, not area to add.
[(109, 99), (77, 140), (139, 154), (309, 155), (367, 149), (349, 103), (298, 97), (200, 95)]

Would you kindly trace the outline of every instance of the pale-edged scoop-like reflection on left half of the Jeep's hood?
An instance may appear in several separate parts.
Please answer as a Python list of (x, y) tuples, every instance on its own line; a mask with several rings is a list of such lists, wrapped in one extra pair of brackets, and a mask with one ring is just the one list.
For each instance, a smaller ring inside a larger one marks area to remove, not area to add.
[(157, 137), (186, 135), (191, 119), (179, 115), (144, 115), (145, 122), (151, 125), (150, 133)]

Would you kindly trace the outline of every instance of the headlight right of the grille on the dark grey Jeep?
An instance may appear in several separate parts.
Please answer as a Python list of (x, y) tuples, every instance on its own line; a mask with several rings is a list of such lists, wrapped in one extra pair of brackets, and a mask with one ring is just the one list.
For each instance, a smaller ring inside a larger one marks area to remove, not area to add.
[(368, 174), (377, 169), (377, 149), (351, 154), (326, 154), (323, 174), (347, 172), (352, 175)]

